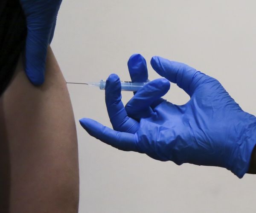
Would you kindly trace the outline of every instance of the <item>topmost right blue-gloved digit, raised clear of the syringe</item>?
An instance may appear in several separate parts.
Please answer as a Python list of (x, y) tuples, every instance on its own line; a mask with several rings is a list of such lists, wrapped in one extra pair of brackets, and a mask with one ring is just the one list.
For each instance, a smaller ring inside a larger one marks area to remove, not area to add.
[(196, 87), (200, 85), (202, 78), (209, 78), (204, 73), (176, 61), (170, 61), (159, 56), (151, 58), (151, 66), (161, 76), (167, 78), (192, 96)]

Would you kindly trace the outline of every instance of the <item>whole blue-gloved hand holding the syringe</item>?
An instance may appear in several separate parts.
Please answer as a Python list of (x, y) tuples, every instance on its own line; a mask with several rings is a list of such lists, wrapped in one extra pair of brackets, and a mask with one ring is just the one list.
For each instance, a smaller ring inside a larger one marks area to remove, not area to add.
[[(128, 63), (138, 80), (139, 73), (145, 73), (144, 61), (133, 55)], [(225, 167), (242, 178), (256, 144), (256, 117), (244, 112), (216, 79), (186, 64), (155, 56), (151, 66), (165, 78), (147, 83), (125, 108), (119, 78), (110, 75), (105, 95), (114, 130), (89, 118), (80, 120), (84, 129), (120, 150), (178, 165)], [(161, 98), (169, 90), (166, 79), (190, 96), (186, 104), (177, 106)]]

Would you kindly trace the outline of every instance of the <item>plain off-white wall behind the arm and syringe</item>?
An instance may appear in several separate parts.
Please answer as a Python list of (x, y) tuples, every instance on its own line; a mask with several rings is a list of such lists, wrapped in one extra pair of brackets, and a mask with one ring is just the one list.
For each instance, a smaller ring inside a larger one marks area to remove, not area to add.
[[(53, 50), (67, 81), (129, 80), (127, 60), (141, 53), (187, 63), (217, 78), (256, 115), (255, 0), (63, 0)], [(149, 78), (159, 78), (149, 67)], [(76, 118), (80, 213), (256, 212), (256, 176), (218, 167), (177, 166), (125, 153), (90, 137), (89, 117), (109, 127), (104, 92), (68, 85)], [(126, 103), (131, 92), (123, 93)], [(166, 98), (188, 100), (176, 85)]]

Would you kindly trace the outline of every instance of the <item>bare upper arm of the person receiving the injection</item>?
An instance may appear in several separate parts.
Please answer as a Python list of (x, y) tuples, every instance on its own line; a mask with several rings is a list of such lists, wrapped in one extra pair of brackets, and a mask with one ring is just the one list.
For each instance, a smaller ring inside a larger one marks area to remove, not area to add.
[(66, 82), (50, 48), (40, 87), (32, 86), (19, 61), (0, 98), (0, 143), (5, 150), (1, 179), (11, 213), (78, 211), (76, 126)]

